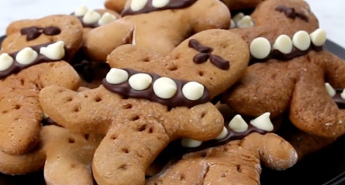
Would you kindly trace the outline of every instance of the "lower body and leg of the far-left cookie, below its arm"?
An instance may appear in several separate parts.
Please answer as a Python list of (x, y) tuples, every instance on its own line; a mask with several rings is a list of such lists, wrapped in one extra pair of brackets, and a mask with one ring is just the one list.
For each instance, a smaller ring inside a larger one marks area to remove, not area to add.
[(12, 155), (30, 151), (39, 141), (43, 116), (37, 92), (14, 91), (0, 104), (0, 150)]

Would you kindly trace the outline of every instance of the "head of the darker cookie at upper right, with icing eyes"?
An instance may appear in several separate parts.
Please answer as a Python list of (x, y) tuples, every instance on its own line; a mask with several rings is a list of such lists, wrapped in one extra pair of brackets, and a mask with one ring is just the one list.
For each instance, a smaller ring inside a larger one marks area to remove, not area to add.
[[(242, 20), (244, 19), (244, 20)], [(308, 33), (319, 28), (318, 20), (310, 11), (307, 3), (300, 0), (266, 0), (249, 15), (238, 14), (233, 22), (241, 21), (240, 28), (231, 29), (250, 44), (258, 36), (274, 43), (279, 35), (286, 34), (290, 38), (298, 31)]]

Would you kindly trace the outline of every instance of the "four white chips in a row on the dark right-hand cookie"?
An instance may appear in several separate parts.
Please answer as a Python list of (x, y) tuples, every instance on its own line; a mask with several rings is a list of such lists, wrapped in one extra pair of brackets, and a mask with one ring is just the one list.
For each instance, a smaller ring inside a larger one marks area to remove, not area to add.
[(258, 37), (250, 44), (250, 53), (254, 58), (264, 59), (270, 54), (271, 48), (284, 54), (289, 54), (293, 46), (301, 51), (305, 51), (310, 47), (311, 43), (315, 46), (322, 46), (325, 42), (326, 31), (321, 28), (318, 28), (310, 34), (304, 30), (300, 30), (293, 35), (292, 40), (286, 34), (278, 36), (272, 47), (266, 38)]

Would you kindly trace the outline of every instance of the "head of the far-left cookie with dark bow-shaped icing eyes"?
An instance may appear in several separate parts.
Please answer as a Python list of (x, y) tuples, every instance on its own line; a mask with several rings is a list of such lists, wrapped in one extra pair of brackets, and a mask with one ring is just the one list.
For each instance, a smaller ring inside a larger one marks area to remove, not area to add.
[(7, 27), (7, 37), (2, 43), (2, 50), (12, 53), (29, 46), (63, 41), (72, 57), (81, 47), (82, 28), (78, 18), (68, 15), (15, 21)]

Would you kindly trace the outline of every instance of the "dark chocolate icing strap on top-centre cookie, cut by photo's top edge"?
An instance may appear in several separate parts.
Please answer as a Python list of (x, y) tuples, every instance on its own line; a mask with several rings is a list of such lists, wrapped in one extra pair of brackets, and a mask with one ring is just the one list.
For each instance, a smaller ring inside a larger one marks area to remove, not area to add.
[(143, 9), (139, 11), (132, 11), (132, 9), (129, 7), (122, 11), (121, 16), (144, 14), (159, 10), (183, 9), (193, 5), (196, 1), (197, 0), (170, 0), (165, 7), (156, 8), (152, 6), (152, 0), (148, 0)]

